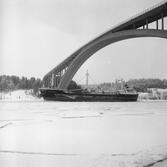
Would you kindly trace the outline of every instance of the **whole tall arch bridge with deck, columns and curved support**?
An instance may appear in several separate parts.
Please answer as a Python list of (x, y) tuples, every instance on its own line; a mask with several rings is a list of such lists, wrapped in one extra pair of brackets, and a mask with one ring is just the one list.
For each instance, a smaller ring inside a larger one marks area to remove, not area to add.
[[(43, 78), (44, 87), (66, 90), (82, 64), (109, 44), (139, 37), (167, 38), (165, 17), (167, 17), (167, 0), (115, 26), (79, 48), (48, 72)], [(153, 22), (155, 27), (150, 28), (150, 23)]]

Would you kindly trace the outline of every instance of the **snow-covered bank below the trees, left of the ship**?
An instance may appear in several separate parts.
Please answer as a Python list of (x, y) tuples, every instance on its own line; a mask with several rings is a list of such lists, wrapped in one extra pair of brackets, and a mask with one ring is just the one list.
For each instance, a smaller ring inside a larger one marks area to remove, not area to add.
[(0, 101), (34, 101), (39, 98), (32, 95), (32, 90), (15, 90), (11, 92), (0, 92)]

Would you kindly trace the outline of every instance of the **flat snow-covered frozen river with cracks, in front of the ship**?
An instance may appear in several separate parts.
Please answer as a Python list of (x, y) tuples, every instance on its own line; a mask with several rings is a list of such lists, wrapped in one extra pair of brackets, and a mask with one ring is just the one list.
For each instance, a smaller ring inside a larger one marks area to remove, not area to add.
[(167, 101), (0, 102), (2, 167), (140, 167), (167, 157)]

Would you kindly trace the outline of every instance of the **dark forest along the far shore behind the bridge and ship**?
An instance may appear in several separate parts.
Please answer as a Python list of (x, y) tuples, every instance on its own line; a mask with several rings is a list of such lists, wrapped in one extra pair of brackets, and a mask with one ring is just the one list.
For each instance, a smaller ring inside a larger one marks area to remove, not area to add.
[[(167, 79), (130, 79), (126, 82), (130, 87), (133, 87), (138, 92), (147, 92), (148, 88), (167, 88)], [(105, 87), (112, 87), (115, 83), (103, 83)], [(42, 87), (42, 80), (39, 78), (31, 77), (18, 77), (1, 75), (0, 76), (0, 91), (12, 91), (17, 89), (33, 89), (36, 94), (39, 88)], [(77, 85), (75, 81), (71, 81), (68, 89), (80, 89), (81, 86)]]

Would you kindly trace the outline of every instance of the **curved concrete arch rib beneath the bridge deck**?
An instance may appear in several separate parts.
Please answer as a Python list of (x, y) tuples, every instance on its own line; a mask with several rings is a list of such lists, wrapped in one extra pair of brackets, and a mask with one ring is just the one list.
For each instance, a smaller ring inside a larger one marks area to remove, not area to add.
[(70, 81), (72, 80), (75, 73), (82, 66), (82, 64), (91, 57), (95, 52), (104, 48), (107, 45), (113, 44), (126, 39), (139, 38), (139, 37), (158, 37), (158, 38), (167, 38), (167, 31), (165, 30), (125, 30), (119, 32), (109, 32), (100, 38), (96, 38), (89, 45), (86, 45), (85, 48), (76, 56), (76, 58), (70, 64), (68, 70), (64, 74), (61, 82), (58, 85), (58, 89), (67, 89)]

